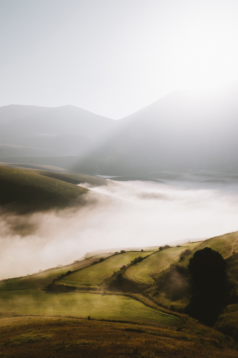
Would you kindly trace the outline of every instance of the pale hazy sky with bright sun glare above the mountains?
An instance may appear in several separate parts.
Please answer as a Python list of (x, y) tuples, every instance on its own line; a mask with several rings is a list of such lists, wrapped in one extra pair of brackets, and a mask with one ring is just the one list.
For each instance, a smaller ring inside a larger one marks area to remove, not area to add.
[(0, 1), (0, 106), (121, 118), (238, 79), (238, 1)]

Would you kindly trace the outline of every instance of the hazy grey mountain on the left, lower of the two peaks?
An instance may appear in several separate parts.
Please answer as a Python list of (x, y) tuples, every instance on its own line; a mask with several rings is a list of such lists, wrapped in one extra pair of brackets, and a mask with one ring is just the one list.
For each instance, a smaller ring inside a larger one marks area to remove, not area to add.
[[(81, 155), (101, 144), (115, 121), (75, 106), (0, 107), (0, 143), (45, 148), (52, 155)], [(1, 150), (1, 148), (0, 148)], [(1, 155), (1, 152), (0, 152)], [(50, 155), (32, 150), (14, 155)], [(1, 157), (9, 155), (1, 155)]]

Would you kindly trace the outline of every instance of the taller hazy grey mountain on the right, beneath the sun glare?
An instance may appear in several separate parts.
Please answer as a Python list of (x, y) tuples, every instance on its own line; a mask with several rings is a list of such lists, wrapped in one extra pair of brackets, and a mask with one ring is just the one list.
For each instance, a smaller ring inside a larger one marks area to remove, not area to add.
[[(100, 148), (104, 173), (159, 178), (162, 171), (238, 171), (238, 86), (176, 91), (118, 121)], [(98, 173), (101, 174), (101, 173)]]

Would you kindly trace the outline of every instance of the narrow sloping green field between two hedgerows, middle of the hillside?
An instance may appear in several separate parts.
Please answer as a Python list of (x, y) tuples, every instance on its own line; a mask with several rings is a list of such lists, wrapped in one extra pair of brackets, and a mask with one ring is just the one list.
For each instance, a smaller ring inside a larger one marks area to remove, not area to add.
[(147, 256), (149, 253), (150, 252), (125, 252), (112, 256), (101, 263), (65, 276), (60, 282), (75, 287), (96, 286), (106, 279), (106, 277), (111, 276), (113, 271), (117, 271), (123, 265), (127, 265), (127, 263), (130, 263), (135, 257)]

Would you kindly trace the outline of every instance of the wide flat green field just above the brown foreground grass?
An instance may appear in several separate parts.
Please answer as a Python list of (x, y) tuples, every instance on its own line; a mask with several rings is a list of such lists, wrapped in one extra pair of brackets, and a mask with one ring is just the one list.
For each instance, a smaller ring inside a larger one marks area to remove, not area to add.
[(131, 297), (68, 292), (55, 294), (40, 290), (0, 293), (2, 313), (22, 315), (70, 315), (95, 319), (153, 322), (174, 325), (179, 318), (143, 305)]

